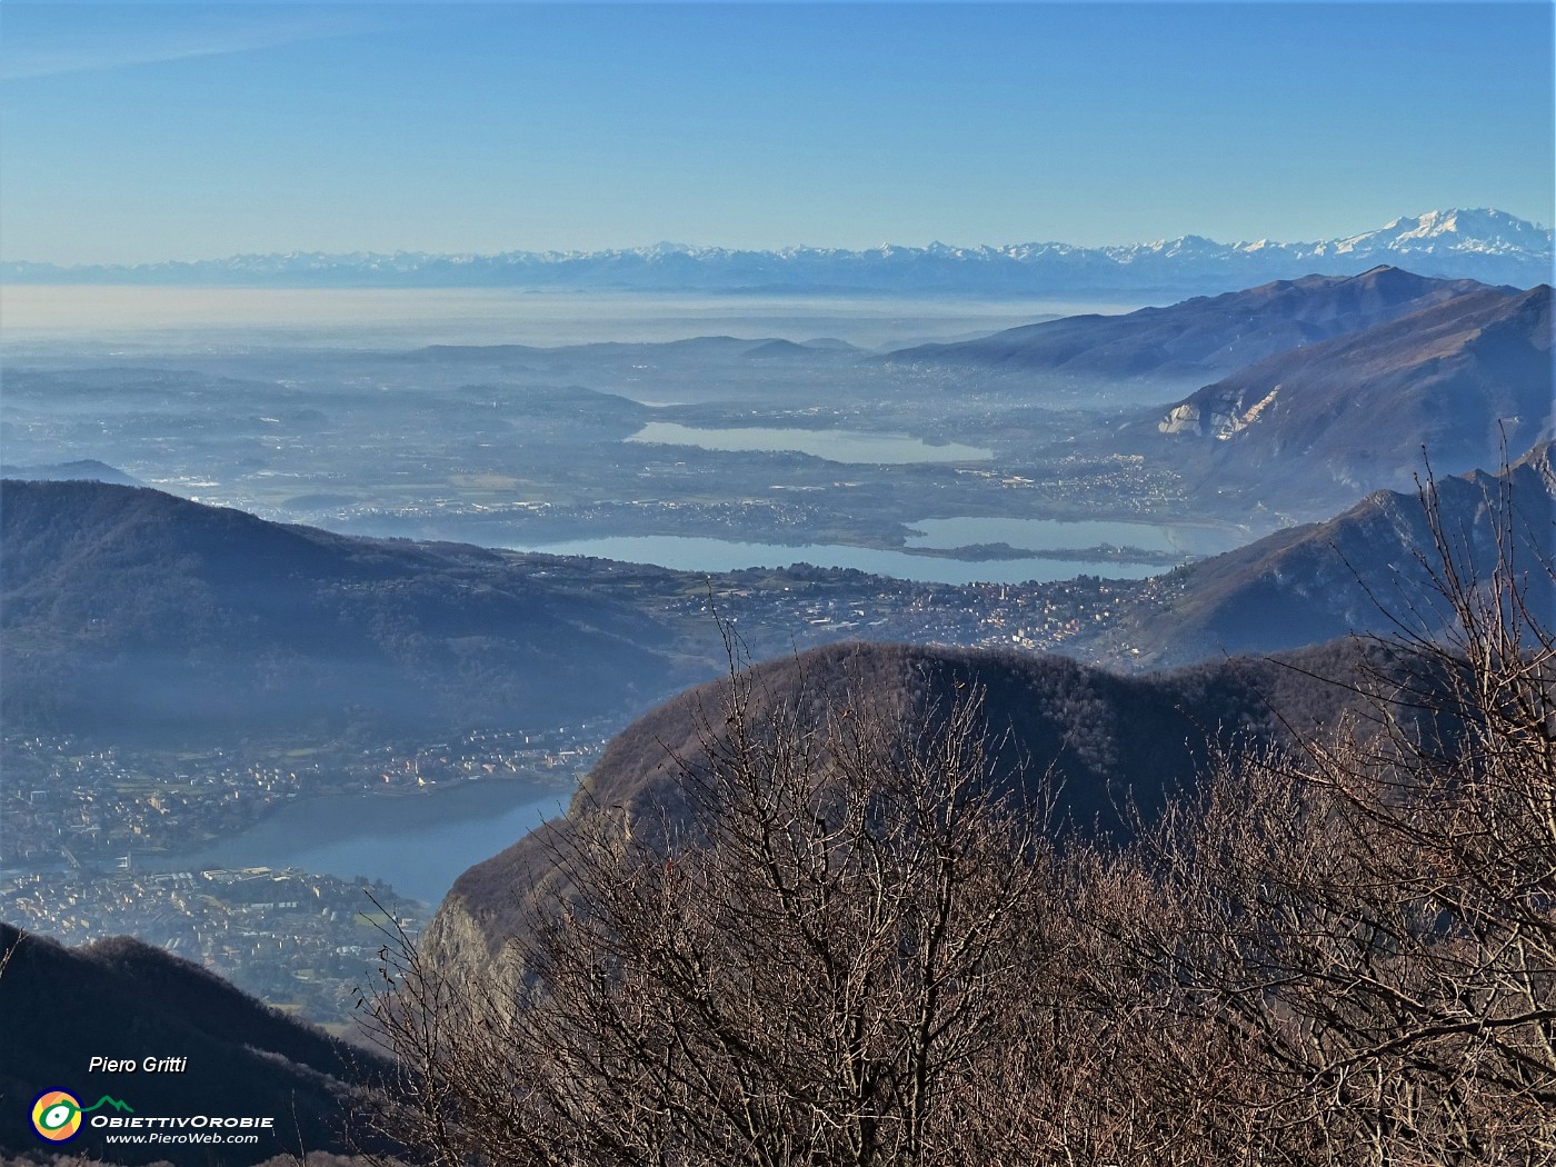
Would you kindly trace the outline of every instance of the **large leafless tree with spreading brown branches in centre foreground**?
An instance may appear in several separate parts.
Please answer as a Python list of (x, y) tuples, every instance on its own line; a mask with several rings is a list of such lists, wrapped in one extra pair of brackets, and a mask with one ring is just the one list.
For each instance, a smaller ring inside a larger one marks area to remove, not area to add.
[(517, 999), (400, 951), (375, 1016), (431, 1161), (966, 1162), (1019, 1088), (1053, 862), (977, 697), (727, 694), (674, 817), (577, 817)]

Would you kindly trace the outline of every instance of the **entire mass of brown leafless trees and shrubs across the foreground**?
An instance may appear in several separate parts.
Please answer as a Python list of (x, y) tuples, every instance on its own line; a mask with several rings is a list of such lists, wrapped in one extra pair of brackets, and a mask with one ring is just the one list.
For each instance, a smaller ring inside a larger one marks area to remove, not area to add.
[(969, 672), (738, 672), (658, 814), (607, 776), (545, 837), (517, 977), (386, 954), (383, 1125), (447, 1167), (1556, 1161), (1556, 579), (1427, 504), (1453, 626), (1133, 832), (1066, 828)]

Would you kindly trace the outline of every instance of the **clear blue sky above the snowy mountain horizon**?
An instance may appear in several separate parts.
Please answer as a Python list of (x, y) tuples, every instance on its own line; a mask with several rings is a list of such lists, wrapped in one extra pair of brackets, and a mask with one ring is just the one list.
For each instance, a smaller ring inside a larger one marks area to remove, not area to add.
[(1550, 3), (0, 6), (0, 254), (1551, 221)]

